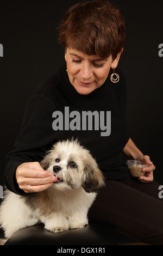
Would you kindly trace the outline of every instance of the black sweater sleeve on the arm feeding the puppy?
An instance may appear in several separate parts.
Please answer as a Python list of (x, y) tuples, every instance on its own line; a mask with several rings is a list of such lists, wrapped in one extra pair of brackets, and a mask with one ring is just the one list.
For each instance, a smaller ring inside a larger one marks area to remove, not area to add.
[(16, 194), (26, 194), (18, 187), (16, 168), (24, 162), (40, 162), (48, 144), (55, 139), (52, 130), (53, 109), (53, 103), (44, 96), (32, 96), (27, 104), (20, 135), (14, 149), (7, 155), (4, 171), (5, 186)]

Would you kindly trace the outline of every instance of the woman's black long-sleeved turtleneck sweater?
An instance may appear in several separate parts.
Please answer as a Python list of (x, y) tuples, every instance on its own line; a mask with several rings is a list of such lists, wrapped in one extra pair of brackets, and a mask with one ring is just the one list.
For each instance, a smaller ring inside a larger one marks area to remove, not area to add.
[[(90, 150), (106, 180), (126, 182), (130, 179), (127, 166), (122, 161), (122, 150), (129, 139), (125, 119), (126, 81), (121, 70), (116, 69), (120, 81), (112, 83), (111, 72), (112, 70), (101, 87), (87, 95), (79, 94), (74, 89), (68, 79), (66, 65), (40, 84), (28, 101), (22, 130), (14, 149), (7, 156), (4, 179), (9, 190), (25, 194), (16, 182), (15, 172), (18, 165), (24, 162), (40, 162), (53, 143), (72, 137), (78, 138), (80, 144)], [(96, 113), (99, 124), (95, 125), (93, 118), (92, 126), (88, 125), (88, 120), (87, 125), (82, 124), (83, 113)], [(104, 131), (109, 113), (111, 124), (108, 121), (107, 131)]]

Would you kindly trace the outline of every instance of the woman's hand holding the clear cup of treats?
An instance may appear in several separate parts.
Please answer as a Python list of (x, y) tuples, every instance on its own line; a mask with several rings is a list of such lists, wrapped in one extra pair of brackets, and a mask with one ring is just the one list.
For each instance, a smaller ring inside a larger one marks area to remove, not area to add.
[(153, 181), (153, 171), (155, 170), (155, 166), (153, 162), (151, 162), (149, 156), (147, 155), (140, 155), (137, 157), (136, 160), (139, 160), (141, 162), (144, 162), (149, 165), (149, 167), (145, 167), (142, 170), (145, 172), (144, 176), (140, 176), (138, 179), (143, 183), (149, 183)]

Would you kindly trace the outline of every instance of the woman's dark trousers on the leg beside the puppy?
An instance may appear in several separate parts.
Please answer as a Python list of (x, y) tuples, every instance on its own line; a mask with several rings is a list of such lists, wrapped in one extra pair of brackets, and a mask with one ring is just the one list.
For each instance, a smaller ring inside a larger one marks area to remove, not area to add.
[(124, 235), (149, 245), (163, 245), (163, 202), (155, 181), (106, 181), (89, 211), (89, 220), (114, 224)]

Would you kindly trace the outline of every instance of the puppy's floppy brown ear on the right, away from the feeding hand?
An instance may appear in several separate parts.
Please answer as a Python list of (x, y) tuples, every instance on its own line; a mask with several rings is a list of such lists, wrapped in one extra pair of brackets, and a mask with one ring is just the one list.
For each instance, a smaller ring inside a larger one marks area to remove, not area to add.
[(95, 159), (89, 154), (84, 161), (82, 186), (87, 193), (98, 192), (105, 185), (104, 176)]

